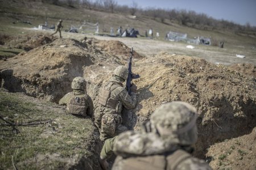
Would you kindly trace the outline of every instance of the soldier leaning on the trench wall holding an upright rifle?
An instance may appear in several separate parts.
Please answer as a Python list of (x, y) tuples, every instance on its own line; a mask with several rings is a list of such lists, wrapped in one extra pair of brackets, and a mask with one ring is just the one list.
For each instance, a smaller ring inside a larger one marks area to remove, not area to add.
[(125, 66), (118, 66), (112, 78), (100, 90), (98, 104), (95, 107), (95, 125), (100, 130), (100, 139), (112, 138), (119, 133), (126, 131), (122, 123), (122, 107), (133, 109), (137, 103), (137, 86), (132, 84), (131, 94), (123, 87), (128, 76), (128, 69)]

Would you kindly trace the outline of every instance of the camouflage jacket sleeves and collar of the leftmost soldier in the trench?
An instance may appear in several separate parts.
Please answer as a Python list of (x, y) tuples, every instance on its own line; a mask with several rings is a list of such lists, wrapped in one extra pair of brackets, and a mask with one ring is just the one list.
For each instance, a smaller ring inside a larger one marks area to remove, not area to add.
[[(60, 101), (59, 101), (59, 104), (62, 104), (62, 105), (67, 105), (67, 109), (69, 107), (69, 103), (71, 101), (71, 97), (72, 97), (72, 94), (74, 94), (75, 96), (77, 97), (83, 97), (85, 95), (85, 92), (83, 90), (73, 90), (73, 92), (69, 92), (68, 94), (66, 94), (65, 96), (63, 96)], [(94, 115), (94, 110), (93, 110), (93, 101), (92, 99), (90, 98), (90, 96), (88, 96), (86, 98), (86, 115), (89, 116), (89, 117), (93, 117)]]

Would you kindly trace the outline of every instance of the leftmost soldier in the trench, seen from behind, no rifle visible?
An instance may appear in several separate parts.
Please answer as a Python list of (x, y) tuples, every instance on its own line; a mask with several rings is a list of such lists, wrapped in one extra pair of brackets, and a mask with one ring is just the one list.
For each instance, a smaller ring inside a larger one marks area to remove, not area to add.
[(69, 113), (93, 118), (93, 102), (86, 94), (86, 81), (84, 78), (77, 76), (71, 84), (72, 92), (69, 92), (59, 101), (59, 104), (67, 105)]

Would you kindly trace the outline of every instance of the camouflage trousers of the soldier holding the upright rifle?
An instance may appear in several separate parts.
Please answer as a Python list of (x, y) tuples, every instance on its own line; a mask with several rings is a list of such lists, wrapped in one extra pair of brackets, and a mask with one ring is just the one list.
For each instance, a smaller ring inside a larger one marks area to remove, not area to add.
[(108, 138), (126, 131), (127, 128), (122, 123), (122, 117), (119, 114), (104, 114), (101, 119), (100, 139), (105, 141)]

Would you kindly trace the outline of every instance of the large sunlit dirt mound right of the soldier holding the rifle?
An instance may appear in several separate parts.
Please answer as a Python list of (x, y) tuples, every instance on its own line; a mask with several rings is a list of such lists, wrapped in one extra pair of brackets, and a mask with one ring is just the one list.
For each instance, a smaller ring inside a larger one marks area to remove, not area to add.
[[(210, 145), (250, 133), (256, 117), (255, 81), (204, 59), (161, 53), (135, 63), (141, 78), (134, 122), (142, 122), (160, 104), (182, 100), (199, 110), (196, 155)], [(135, 127), (137, 128), (137, 127)]]

